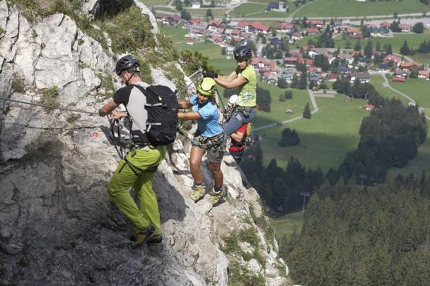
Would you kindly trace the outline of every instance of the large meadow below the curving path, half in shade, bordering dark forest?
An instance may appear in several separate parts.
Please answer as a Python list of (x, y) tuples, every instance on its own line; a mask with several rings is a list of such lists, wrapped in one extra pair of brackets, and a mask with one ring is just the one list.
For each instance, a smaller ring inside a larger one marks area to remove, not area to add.
[[(322, 171), (327, 172), (330, 167), (337, 168), (349, 150), (355, 150), (361, 119), (368, 114), (363, 108), (364, 100), (345, 102), (343, 95), (337, 95), (316, 101), (319, 111), (312, 115), (312, 119), (299, 119), (284, 126), (256, 131), (262, 136), (264, 165), (277, 158), (278, 165), (286, 167), (293, 156), (306, 167), (316, 169), (321, 166)], [(281, 131), (286, 127), (296, 129), (301, 140), (299, 145), (279, 147)]]

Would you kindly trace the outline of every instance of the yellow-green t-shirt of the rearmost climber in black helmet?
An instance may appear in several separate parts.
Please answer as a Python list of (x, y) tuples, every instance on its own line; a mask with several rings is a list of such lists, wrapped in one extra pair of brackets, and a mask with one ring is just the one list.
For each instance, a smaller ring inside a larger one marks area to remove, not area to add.
[(252, 65), (246, 66), (243, 71), (238, 71), (238, 76), (246, 78), (248, 83), (239, 88), (237, 105), (254, 107), (257, 105), (257, 76), (254, 67)]

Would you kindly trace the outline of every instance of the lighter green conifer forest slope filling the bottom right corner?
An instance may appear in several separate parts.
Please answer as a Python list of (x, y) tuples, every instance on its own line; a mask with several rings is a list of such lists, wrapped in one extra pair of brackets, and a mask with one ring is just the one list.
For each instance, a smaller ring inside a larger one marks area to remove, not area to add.
[(426, 285), (430, 180), (364, 188), (328, 182), (310, 198), (301, 232), (279, 254), (301, 285)]

